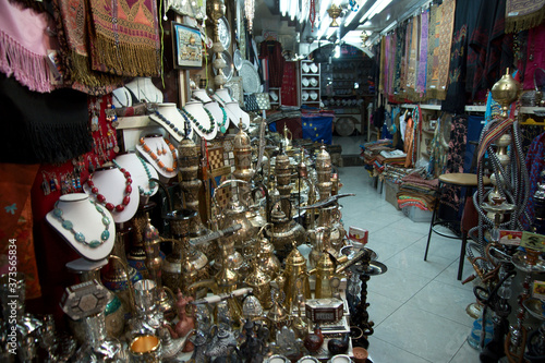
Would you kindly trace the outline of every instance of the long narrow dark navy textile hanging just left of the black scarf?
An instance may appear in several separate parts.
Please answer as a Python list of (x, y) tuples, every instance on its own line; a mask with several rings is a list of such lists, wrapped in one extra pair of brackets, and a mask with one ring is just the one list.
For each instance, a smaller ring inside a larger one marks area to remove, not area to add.
[(479, 9), (484, 0), (459, 1), (456, 8), (455, 32), (450, 50), (447, 96), (441, 111), (460, 114), (465, 111), (465, 75), (468, 70), (468, 41), (476, 25)]

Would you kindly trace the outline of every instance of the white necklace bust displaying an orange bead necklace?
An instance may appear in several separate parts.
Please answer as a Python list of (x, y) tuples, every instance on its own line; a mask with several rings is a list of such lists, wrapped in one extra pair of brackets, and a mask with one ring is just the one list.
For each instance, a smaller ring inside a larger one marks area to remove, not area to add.
[[(142, 137), (141, 141), (143, 141), (144, 144), (142, 144), (141, 142), (141, 144), (136, 145), (136, 150), (140, 153), (140, 155), (147, 162), (149, 162), (155, 168), (155, 170), (157, 170), (157, 173), (164, 179), (174, 178), (178, 169), (178, 155), (175, 154), (175, 152), (172, 153), (170, 150), (170, 145), (167, 144), (162, 135), (149, 135), (146, 137)], [(149, 152), (145, 150), (144, 145), (149, 148)], [(161, 153), (161, 155), (159, 155), (158, 150)], [(171, 168), (173, 170), (170, 171), (167, 170), (167, 168)]]

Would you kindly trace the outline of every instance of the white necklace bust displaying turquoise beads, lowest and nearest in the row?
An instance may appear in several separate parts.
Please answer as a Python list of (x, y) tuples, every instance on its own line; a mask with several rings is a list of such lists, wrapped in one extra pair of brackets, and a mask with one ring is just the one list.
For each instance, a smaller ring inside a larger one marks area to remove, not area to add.
[[(83, 235), (89, 240), (93, 239), (100, 241), (100, 233), (105, 230), (105, 223), (102, 223), (104, 216), (98, 213), (95, 205), (90, 203), (87, 194), (74, 193), (61, 195), (57, 207), (62, 210), (62, 218), (64, 221), (70, 221), (73, 225), (74, 231), (83, 233)], [(113, 249), (113, 242), (116, 240), (116, 226), (113, 223), (112, 215), (108, 211), (108, 209), (104, 206), (100, 206), (100, 208), (102, 208), (105, 216), (110, 219), (110, 223), (108, 226), (108, 232), (110, 235), (102, 244), (95, 249), (76, 241), (74, 233), (62, 227), (63, 222), (55, 216), (53, 210), (46, 215), (46, 220), (81, 256), (89, 261), (101, 261), (108, 257)]]

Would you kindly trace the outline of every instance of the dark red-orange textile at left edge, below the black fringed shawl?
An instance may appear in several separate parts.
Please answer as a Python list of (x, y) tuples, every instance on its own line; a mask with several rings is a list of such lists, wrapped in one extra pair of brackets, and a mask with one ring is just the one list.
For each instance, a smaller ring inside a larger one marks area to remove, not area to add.
[(0, 275), (8, 273), (9, 241), (15, 240), (17, 271), (26, 276), (26, 298), (41, 294), (34, 253), (31, 189), (38, 165), (0, 164)]

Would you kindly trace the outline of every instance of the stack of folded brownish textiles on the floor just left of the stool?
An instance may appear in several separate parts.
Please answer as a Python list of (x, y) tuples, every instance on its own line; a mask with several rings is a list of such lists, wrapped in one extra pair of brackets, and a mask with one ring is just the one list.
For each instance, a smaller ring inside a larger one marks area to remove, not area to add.
[(437, 179), (426, 180), (417, 172), (404, 177), (397, 194), (399, 207), (416, 206), (422, 210), (433, 210), (437, 185)]

